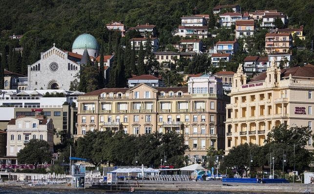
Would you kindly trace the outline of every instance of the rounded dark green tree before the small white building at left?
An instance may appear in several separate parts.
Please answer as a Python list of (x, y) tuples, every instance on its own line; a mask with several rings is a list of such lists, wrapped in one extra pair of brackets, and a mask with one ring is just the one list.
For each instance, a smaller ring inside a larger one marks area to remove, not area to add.
[[(50, 162), (52, 153), (49, 144), (44, 140), (31, 139), (26, 146), (17, 153), (20, 164), (33, 164), (37, 169), (38, 164)], [(36, 149), (34, 149), (36, 148)]]

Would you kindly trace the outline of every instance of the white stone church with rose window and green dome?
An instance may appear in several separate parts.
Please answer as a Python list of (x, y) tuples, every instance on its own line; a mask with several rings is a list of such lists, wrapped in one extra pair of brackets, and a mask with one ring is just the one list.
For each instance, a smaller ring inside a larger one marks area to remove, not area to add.
[[(53, 44), (49, 50), (41, 53), (41, 59), (27, 69), (27, 88), (36, 89), (66, 89), (80, 72), (80, 67), (86, 64), (88, 54), (92, 62), (99, 62), (99, 44), (90, 34), (79, 35), (72, 44), (72, 52), (59, 49)], [(113, 55), (104, 56), (104, 75), (113, 61)], [(107, 72), (106, 72), (107, 71)], [(106, 77), (106, 76), (105, 76)]]

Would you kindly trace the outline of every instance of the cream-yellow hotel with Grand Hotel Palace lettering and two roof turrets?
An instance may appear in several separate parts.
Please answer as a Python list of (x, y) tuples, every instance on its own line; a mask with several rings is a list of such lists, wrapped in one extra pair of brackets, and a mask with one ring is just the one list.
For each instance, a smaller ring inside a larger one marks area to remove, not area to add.
[[(239, 144), (263, 145), (267, 133), (281, 123), (313, 130), (314, 65), (271, 67), (247, 82), (240, 65), (233, 76), (226, 106), (226, 152)], [(312, 139), (308, 149), (313, 149)]]

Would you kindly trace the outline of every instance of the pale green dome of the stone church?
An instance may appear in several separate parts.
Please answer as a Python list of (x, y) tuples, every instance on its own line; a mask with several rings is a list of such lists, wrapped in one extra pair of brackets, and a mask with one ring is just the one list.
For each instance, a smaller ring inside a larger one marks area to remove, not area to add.
[(73, 49), (99, 49), (99, 45), (95, 39), (90, 34), (81, 34), (80, 36), (76, 37), (74, 40), (74, 43), (72, 44), (72, 50)]

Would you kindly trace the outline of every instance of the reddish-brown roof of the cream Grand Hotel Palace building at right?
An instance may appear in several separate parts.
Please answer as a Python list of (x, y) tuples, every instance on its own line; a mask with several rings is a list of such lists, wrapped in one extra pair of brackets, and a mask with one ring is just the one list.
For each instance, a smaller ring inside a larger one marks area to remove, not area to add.
[[(281, 78), (289, 77), (306, 77), (306, 78), (314, 78), (314, 65), (308, 64), (304, 66), (296, 66), (288, 69), (281, 69)], [(251, 82), (259, 82), (264, 81), (266, 79), (266, 72), (260, 73), (259, 75), (253, 77), (249, 83)]]

